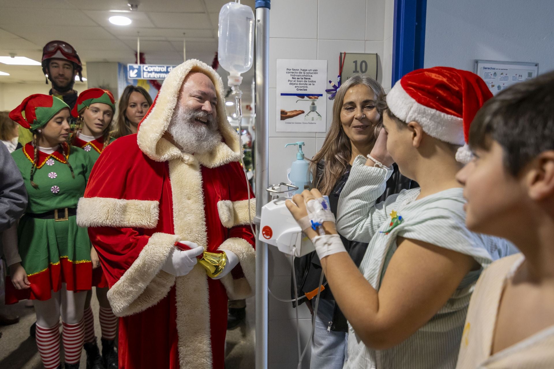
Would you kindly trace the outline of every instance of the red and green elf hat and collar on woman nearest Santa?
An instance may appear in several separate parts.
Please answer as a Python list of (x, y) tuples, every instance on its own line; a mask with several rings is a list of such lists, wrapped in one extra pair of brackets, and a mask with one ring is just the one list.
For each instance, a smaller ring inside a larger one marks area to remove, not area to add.
[[(115, 114), (114, 95), (112, 95), (109, 90), (88, 89), (79, 94), (77, 103), (73, 107), (73, 110), (71, 110), (71, 115), (75, 118), (79, 118), (79, 113), (82, 114), (84, 109), (89, 108), (90, 105), (97, 102), (109, 105)], [(83, 122), (83, 124), (85, 123)], [(102, 150), (104, 150), (104, 147), (115, 141), (115, 138), (109, 136), (109, 127), (106, 130), (108, 134), (95, 139), (83, 139), (84, 137), (81, 134), (81, 131), (78, 131), (73, 138), (73, 144), (85, 150), (85, 152), (91, 155), (94, 162), (96, 162), (96, 160), (100, 157)], [(106, 138), (108, 142), (104, 144), (106, 142)]]

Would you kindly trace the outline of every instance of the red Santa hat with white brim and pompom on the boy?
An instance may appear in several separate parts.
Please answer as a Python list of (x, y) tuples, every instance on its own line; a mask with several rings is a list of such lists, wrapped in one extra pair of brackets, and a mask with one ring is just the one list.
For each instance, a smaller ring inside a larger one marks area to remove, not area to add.
[(404, 122), (416, 121), (429, 136), (463, 146), (456, 160), (468, 163), (469, 126), (493, 97), (478, 75), (444, 66), (409, 72), (387, 95), (389, 110)]

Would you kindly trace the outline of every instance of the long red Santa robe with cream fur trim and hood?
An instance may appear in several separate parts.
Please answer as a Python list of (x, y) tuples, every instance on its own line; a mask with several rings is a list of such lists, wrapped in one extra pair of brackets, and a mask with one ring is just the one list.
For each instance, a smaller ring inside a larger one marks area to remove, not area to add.
[[(216, 86), (223, 142), (205, 154), (182, 153), (162, 138), (184, 77), (206, 74)], [(227, 299), (254, 293), (254, 235), (238, 135), (227, 122), (223, 84), (197, 60), (172, 70), (137, 134), (106, 147), (79, 201), (78, 224), (91, 242), (120, 316), (120, 369), (224, 366)], [(250, 194), (252, 196), (252, 193)], [(239, 264), (222, 279), (197, 264), (186, 276), (161, 270), (178, 241), (229, 250)]]

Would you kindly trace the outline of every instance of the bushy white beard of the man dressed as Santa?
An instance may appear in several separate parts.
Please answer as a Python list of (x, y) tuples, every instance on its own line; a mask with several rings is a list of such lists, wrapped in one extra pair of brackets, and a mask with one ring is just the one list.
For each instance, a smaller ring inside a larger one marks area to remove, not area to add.
[[(208, 122), (199, 124), (194, 121), (196, 118), (204, 118)], [(189, 154), (211, 152), (221, 142), (221, 134), (213, 116), (185, 106), (176, 107), (167, 132), (182, 150)]]

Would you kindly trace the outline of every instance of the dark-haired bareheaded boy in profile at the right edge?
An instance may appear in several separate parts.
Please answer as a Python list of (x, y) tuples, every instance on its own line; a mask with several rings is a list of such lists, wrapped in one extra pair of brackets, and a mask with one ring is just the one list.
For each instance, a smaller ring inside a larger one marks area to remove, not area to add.
[(521, 253), (481, 274), (457, 368), (554, 368), (554, 72), (486, 102), (469, 144), (466, 225)]

